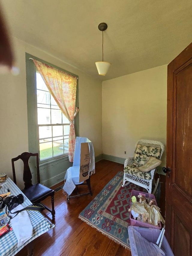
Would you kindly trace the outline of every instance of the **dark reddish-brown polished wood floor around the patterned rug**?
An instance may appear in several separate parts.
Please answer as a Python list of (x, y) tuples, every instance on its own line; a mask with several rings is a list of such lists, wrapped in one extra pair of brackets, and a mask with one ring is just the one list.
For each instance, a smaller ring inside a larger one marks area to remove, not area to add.
[[(123, 164), (107, 160), (97, 162), (95, 167), (95, 174), (91, 176), (92, 197), (85, 195), (83, 197), (70, 199), (70, 203), (67, 204), (66, 197), (63, 195), (62, 190), (55, 192), (55, 228), (35, 239), (35, 256), (131, 256), (131, 252), (128, 249), (113, 242), (107, 236), (78, 218), (79, 213), (93, 200), (116, 173), (123, 171)], [(57, 188), (59, 185), (60, 184), (55, 185), (53, 189)], [(84, 188), (86, 188), (86, 186)], [(163, 190), (164, 184), (162, 183), (162, 206), (165, 200)], [(44, 203), (49, 207), (51, 206), (50, 200), (48, 199), (44, 200)], [(164, 212), (164, 209), (161, 208), (161, 210)], [(49, 212), (46, 212), (46, 214), (51, 218)], [(16, 255), (26, 256), (27, 248), (23, 248)]]

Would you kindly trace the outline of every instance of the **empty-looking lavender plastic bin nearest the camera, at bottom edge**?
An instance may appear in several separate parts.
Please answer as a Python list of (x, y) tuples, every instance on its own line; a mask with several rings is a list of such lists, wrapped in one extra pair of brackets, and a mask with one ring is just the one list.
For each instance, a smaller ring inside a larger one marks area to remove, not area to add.
[[(138, 231), (140, 235), (134, 234), (134, 230)], [(155, 256), (162, 254), (154, 254), (153, 245), (148, 242), (156, 243), (161, 230), (155, 228), (145, 227), (128, 227), (129, 241), (132, 256)], [(144, 242), (141, 238), (145, 238), (148, 242)], [(161, 249), (166, 256), (174, 256), (166, 237), (164, 236)]]

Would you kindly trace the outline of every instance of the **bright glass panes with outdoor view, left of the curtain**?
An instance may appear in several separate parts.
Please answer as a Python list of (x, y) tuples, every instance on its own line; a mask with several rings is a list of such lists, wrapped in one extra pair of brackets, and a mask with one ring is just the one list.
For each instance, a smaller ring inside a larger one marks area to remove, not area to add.
[(40, 161), (68, 154), (69, 124), (41, 75), (36, 72)]

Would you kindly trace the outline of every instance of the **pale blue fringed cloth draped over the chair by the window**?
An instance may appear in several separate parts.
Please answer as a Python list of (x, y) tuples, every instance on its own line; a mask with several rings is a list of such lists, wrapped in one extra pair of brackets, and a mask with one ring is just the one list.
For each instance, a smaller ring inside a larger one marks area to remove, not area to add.
[(67, 169), (64, 177), (64, 182), (65, 182), (63, 186), (64, 194), (67, 193), (68, 195), (70, 195), (75, 189), (75, 185), (78, 185), (84, 182), (82, 181), (79, 183), (79, 172), (80, 172), (80, 152), (81, 152), (80, 144), (85, 142), (88, 142), (89, 155), (90, 155), (88, 176), (90, 176), (92, 173), (95, 173), (95, 152), (94, 152), (92, 142), (85, 137), (76, 137), (73, 166)]

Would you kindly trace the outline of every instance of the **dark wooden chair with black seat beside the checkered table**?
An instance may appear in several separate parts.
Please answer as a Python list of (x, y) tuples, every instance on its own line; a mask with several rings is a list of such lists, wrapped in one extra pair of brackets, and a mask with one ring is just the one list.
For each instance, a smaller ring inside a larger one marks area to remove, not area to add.
[[(29, 168), (29, 158), (31, 156), (36, 157), (37, 161), (37, 183), (32, 184), (32, 173)], [(47, 206), (45, 208), (51, 212), (52, 214), (52, 221), (55, 220), (55, 209), (54, 209), (54, 190), (51, 188), (47, 188), (46, 186), (42, 185), (40, 183), (40, 175), (39, 175), (39, 154), (38, 153), (29, 153), (24, 152), (21, 155), (18, 155), (15, 158), (11, 159), (12, 163), (12, 170), (13, 170), (13, 182), (16, 184), (16, 176), (15, 176), (15, 166), (14, 162), (21, 159), (24, 164), (23, 169), (23, 181), (25, 188), (22, 190), (23, 194), (26, 195), (26, 197), (32, 202), (32, 203), (40, 203), (43, 201), (46, 197), (51, 197), (51, 203), (52, 203), (52, 210), (49, 209)]]

